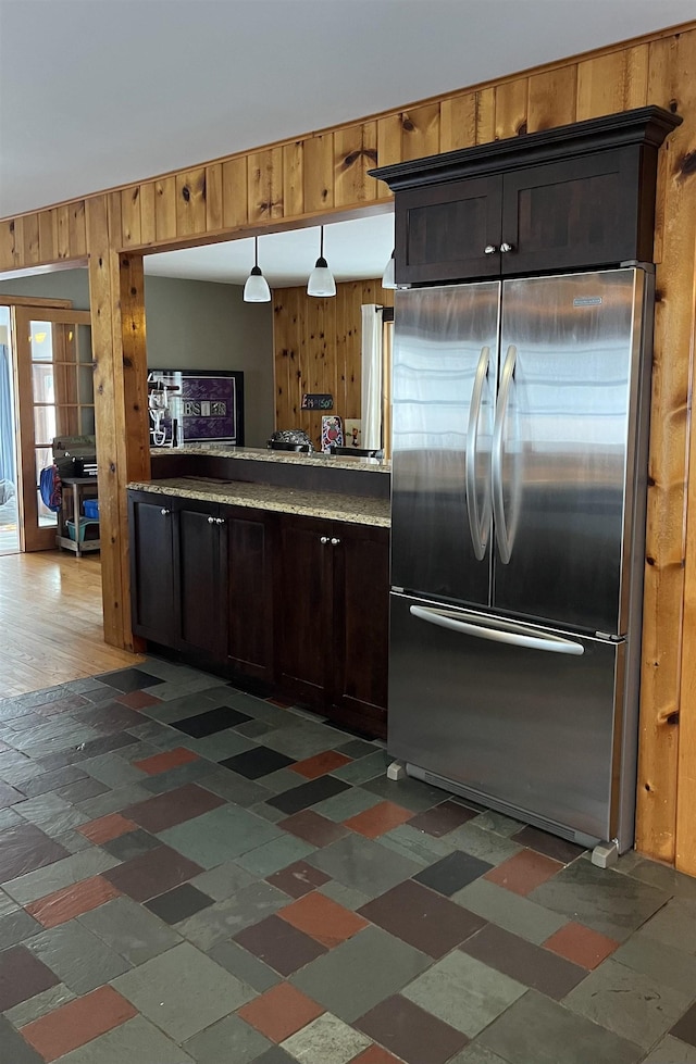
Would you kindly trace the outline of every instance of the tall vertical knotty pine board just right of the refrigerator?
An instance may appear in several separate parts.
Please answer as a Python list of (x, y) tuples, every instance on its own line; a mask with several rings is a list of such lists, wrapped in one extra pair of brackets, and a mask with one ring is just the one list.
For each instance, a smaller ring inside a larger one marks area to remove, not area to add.
[[(696, 145), (694, 64), (696, 33), (662, 38), (649, 46), (647, 98), (650, 103), (676, 110), (684, 121), (662, 150), (657, 192), (636, 848), (670, 863), (675, 859), (678, 775), (683, 765), (681, 714), (687, 717), (693, 712), (680, 691), (681, 673), (696, 658), (696, 628), (686, 625), (684, 616), (689, 388), (694, 373), (696, 176), (688, 164)], [(696, 863), (693, 833), (688, 848)]]

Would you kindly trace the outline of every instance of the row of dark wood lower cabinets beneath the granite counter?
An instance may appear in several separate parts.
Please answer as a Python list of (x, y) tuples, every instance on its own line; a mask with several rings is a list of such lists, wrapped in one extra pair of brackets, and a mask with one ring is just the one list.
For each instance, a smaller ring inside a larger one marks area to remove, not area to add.
[(386, 735), (386, 528), (151, 492), (128, 508), (137, 635)]

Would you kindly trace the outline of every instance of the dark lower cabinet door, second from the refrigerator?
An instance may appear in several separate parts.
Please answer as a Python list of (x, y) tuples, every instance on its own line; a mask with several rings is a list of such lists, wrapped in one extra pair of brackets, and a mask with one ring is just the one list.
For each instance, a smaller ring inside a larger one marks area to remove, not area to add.
[(325, 521), (281, 518), (275, 594), (278, 681), (283, 693), (319, 706), (324, 704), (331, 667), (331, 564)]

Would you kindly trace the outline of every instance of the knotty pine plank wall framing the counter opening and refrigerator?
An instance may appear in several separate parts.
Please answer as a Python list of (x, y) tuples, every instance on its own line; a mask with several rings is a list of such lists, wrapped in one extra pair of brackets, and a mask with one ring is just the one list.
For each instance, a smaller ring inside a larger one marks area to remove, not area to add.
[[(332, 216), (388, 202), (366, 171), (496, 138), (524, 135), (647, 103), (683, 124), (661, 152), (655, 258), (658, 305), (652, 378), (637, 848), (696, 875), (696, 550), (686, 551), (696, 486), (688, 483), (696, 274), (696, 22), (498, 82), (181, 173), (99, 192), (0, 222), (0, 272), (89, 256), (92, 314), (102, 317), (95, 356), (102, 560), (109, 641), (132, 642), (127, 609), (125, 485), (148, 466), (141, 286), (116, 283), (124, 253), (139, 254)], [(87, 215), (90, 224), (87, 225)], [(95, 237), (98, 240), (95, 241)], [(115, 256), (115, 258), (114, 258)], [(109, 279), (104, 274), (108, 272)], [(127, 272), (127, 271), (126, 271)], [(127, 314), (121, 298), (127, 296)], [(319, 311), (318, 311), (319, 313)], [(128, 336), (135, 329), (136, 342)], [(330, 376), (332, 371), (322, 371)], [(128, 381), (133, 381), (133, 387)], [(140, 381), (140, 384), (138, 384)], [(122, 443), (121, 441), (125, 441)], [(696, 442), (692, 435), (692, 450)], [(691, 513), (686, 504), (691, 502)], [(691, 518), (687, 523), (687, 518)], [(692, 536), (693, 540), (693, 536)], [(686, 599), (685, 599), (686, 593)], [(688, 622), (686, 624), (685, 622)], [(680, 753), (680, 736), (684, 743)], [(679, 818), (678, 818), (679, 804)]]

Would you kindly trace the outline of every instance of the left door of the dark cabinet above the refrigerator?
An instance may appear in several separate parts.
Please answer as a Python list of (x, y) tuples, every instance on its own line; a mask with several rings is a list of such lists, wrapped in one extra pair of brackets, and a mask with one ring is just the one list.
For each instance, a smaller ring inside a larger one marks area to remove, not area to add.
[(501, 196), (498, 174), (399, 192), (397, 284), (498, 276)]

